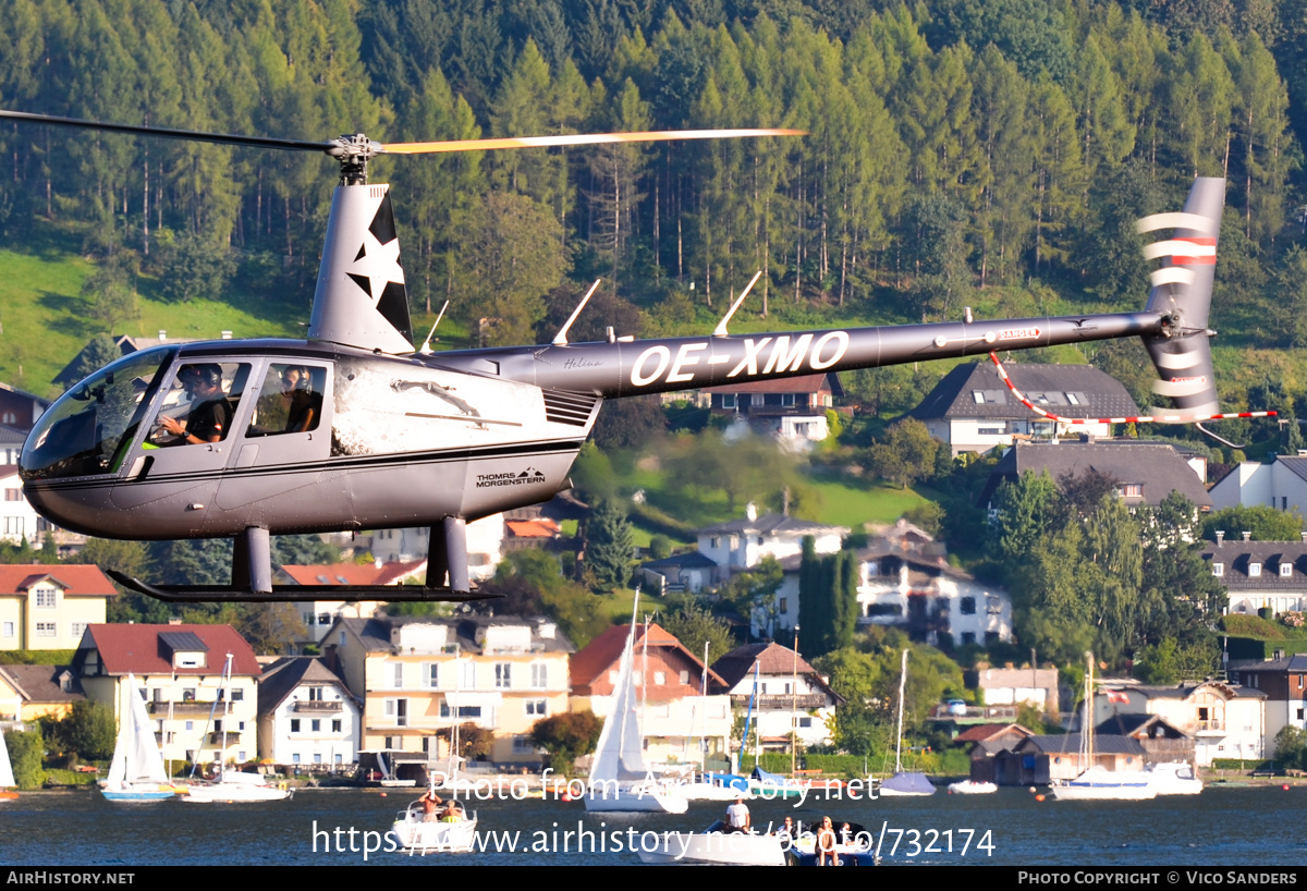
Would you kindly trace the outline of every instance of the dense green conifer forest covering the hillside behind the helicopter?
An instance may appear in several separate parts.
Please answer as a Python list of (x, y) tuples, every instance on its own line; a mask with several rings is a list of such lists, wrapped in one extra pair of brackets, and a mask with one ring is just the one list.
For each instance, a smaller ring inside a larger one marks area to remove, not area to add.
[[(1253, 319), (1247, 342), (1307, 345), (1303, 0), (12, 0), (7, 18), (0, 105), (21, 111), (383, 142), (809, 132), (374, 162), (414, 310), (451, 299), (482, 342), (529, 341), (542, 298), (593, 277), (627, 333), (719, 314), (758, 269), (746, 311), (770, 324), (951, 317), (995, 287), (1134, 307), (1134, 218), (1223, 175), (1217, 299)], [(84, 225), (107, 278), (183, 300), (311, 294), (329, 159), (12, 123), (0, 142), (10, 238)]]

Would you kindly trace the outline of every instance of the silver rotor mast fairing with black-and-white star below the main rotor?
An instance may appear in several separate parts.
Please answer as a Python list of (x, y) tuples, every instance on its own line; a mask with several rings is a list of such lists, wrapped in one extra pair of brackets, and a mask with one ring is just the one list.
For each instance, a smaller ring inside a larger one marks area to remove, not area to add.
[(413, 351), (389, 186), (336, 187), (308, 337), (382, 353)]

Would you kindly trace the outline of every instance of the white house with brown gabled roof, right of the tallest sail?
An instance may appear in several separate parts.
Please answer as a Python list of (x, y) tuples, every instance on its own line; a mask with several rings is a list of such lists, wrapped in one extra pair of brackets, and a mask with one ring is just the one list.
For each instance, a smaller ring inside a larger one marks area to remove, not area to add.
[(844, 700), (793, 649), (778, 643), (746, 644), (719, 658), (712, 669), (725, 682), (737, 715), (742, 715), (753, 700), (758, 743), (763, 750), (788, 751), (792, 736), (801, 746), (830, 743), (831, 719), (835, 707)]

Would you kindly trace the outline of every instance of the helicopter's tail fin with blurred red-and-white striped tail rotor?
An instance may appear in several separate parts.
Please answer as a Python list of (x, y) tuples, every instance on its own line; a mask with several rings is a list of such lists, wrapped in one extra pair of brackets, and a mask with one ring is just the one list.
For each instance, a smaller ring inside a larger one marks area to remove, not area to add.
[[(1225, 180), (1199, 178), (1182, 213), (1159, 213), (1138, 221), (1140, 233), (1163, 234), (1144, 248), (1146, 259), (1161, 261), (1151, 274), (1148, 308), (1171, 317), (1165, 334), (1144, 338), (1158, 374), (1153, 392), (1168, 397), (1174, 410), (1192, 421), (1244, 417), (1219, 414), (1208, 342), (1213, 334), (1208, 314), (1223, 209)], [(1165, 409), (1157, 412), (1171, 414)]]

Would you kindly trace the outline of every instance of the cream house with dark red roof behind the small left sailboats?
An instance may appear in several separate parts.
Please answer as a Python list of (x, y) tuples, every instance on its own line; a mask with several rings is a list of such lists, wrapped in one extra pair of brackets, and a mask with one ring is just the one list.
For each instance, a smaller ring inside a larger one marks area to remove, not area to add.
[(145, 699), (165, 762), (243, 764), (257, 756), (263, 670), (230, 624), (91, 624), (73, 669), (88, 699), (111, 705), (119, 721), (127, 696)]

